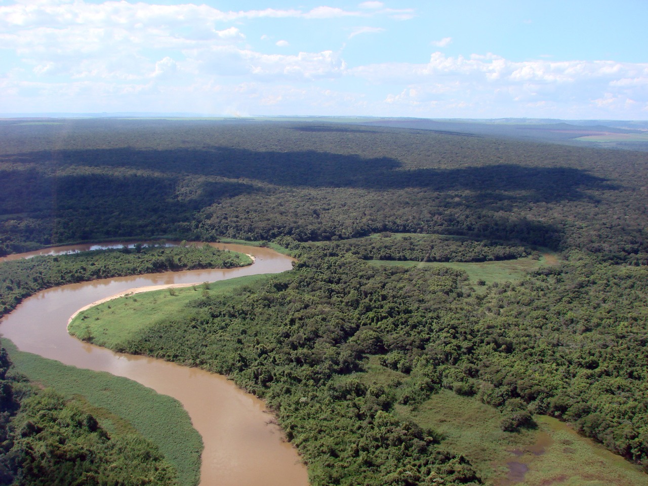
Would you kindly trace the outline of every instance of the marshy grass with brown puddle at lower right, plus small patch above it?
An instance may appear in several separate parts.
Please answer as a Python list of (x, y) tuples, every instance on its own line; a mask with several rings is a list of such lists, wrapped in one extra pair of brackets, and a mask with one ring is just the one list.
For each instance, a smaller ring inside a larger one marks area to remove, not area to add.
[[(378, 364), (373, 356), (367, 372), (356, 375), (367, 384), (386, 385), (407, 375)], [(421, 405), (397, 405), (396, 412), (445, 436), (441, 446), (463, 454), (485, 484), (492, 486), (635, 486), (648, 476), (620, 456), (552, 417), (538, 415), (538, 428), (503, 432), (500, 413), (474, 397), (442, 389)]]

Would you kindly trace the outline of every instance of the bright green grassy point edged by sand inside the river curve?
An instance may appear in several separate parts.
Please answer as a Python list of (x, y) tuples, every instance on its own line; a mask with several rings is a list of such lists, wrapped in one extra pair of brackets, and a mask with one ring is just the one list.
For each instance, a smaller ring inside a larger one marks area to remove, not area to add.
[[(80, 312), (70, 323), (73, 336), (110, 349), (123, 349), (123, 343), (159, 319), (174, 319), (186, 314), (187, 303), (205, 295), (223, 295), (242, 285), (267, 279), (268, 275), (249, 275), (207, 285), (156, 290), (120, 297)], [(207, 288), (205, 288), (207, 287)]]

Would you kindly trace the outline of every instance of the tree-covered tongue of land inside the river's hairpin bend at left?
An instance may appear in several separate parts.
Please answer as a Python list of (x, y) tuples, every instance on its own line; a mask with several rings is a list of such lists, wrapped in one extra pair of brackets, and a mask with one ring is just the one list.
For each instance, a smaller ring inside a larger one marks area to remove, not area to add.
[(163, 247), (135, 244), (130, 249), (106, 249), (33, 257), (0, 263), (0, 316), (25, 297), (59, 285), (142, 273), (200, 268), (233, 268), (251, 263), (248, 257), (207, 244)]

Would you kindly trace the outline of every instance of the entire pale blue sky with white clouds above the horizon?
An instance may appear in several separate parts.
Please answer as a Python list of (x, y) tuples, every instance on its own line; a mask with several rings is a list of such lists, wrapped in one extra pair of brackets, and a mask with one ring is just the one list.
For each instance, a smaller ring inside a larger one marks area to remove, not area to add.
[(647, 21), (647, 0), (0, 0), (0, 113), (646, 120)]

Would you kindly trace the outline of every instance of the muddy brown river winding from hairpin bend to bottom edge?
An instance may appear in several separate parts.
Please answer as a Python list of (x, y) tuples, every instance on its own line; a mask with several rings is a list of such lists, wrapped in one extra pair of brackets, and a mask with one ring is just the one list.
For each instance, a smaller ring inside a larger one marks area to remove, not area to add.
[(21, 351), (67, 365), (125, 376), (178, 399), (205, 445), (201, 486), (307, 486), (305, 467), (295, 449), (282, 440), (281, 430), (268, 423), (272, 415), (263, 402), (223, 376), (152, 358), (113, 353), (67, 334), (67, 320), (78, 308), (125, 290), (278, 273), (289, 270), (292, 265), (290, 258), (266, 248), (214, 246), (249, 253), (255, 257), (255, 264), (229, 270), (156, 273), (52, 288), (25, 299), (3, 318), (0, 332)]

